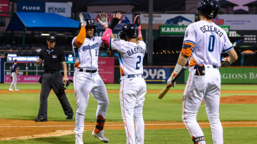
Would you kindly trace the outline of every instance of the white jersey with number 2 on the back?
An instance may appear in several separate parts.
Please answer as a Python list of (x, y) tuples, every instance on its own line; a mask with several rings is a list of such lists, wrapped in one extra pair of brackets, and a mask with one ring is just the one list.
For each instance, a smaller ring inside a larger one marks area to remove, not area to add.
[(120, 39), (111, 39), (110, 48), (119, 52), (120, 74), (143, 74), (143, 59), (146, 51), (146, 43), (138, 41), (133, 43)]

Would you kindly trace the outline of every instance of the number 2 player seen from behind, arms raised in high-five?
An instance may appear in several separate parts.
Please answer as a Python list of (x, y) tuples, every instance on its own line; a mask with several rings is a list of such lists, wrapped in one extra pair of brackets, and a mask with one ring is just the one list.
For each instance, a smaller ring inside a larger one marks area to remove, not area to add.
[[(120, 107), (126, 131), (127, 144), (144, 143), (143, 105), (146, 83), (143, 77), (143, 59), (146, 51), (140, 27), (126, 23), (122, 26), (120, 39), (111, 39), (110, 34), (120, 21), (120, 12), (113, 18), (109, 28), (104, 32), (102, 41), (111, 49), (119, 52), (120, 60)], [(135, 123), (135, 124), (134, 124)]]

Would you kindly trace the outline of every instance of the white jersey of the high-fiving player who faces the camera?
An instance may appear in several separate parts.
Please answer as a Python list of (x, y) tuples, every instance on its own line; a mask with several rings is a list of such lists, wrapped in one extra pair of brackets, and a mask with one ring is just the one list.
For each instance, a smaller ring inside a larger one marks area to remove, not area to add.
[(99, 46), (102, 45), (101, 37), (86, 38), (79, 48), (74, 45), (76, 38), (74, 37), (72, 42), (76, 68), (88, 70), (98, 68)]

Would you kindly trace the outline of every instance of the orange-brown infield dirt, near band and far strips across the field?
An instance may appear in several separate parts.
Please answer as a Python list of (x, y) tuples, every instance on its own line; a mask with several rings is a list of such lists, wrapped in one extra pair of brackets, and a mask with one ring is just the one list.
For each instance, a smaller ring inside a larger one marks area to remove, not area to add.
[[(8, 90), (0, 90), (1, 94), (8, 94)], [(39, 93), (40, 90), (21, 90), (17, 93)], [(73, 93), (74, 90), (67, 90), (67, 93)], [(108, 90), (108, 93), (118, 93), (119, 90)], [(148, 90), (150, 93), (158, 93), (160, 90)], [(172, 92), (183, 92), (183, 90), (172, 90)], [(221, 91), (223, 93), (243, 94), (244, 91)], [(169, 92), (171, 93), (171, 91)], [(250, 90), (247, 93), (257, 93), (257, 90)], [(220, 103), (257, 103), (256, 96), (226, 96), (220, 98)], [(208, 122), (199, 122), (201, 127), (209, 127)], [(222, 122), (223, 127), (257, 127), (257, 121), (225, 121)], [(66, 134), (74, 134), (75, 121), (47, 121), (37, 123), (28, 120), (10, 120), (0, 119), (0, 140), (39, 138), (47, 136), (62, 136)], [(85, 123), (84, 130), (93, 130), (95, 123)], [(184, 123), (173, 121), (145, 121), (145, 129), (184, 129)], [(105, 130), (122, 130), (124, 123), (122, 122), (106, 122)]]

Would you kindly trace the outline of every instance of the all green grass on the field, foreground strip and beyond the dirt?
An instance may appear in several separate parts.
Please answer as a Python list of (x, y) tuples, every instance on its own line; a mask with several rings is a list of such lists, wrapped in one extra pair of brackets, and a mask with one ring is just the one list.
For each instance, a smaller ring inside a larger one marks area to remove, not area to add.
[[(0, 84), (0, 89), (8, 90), (10, 84)], [(41, 88), (39, 84), (21, 84), (18, 83), (18, 88), (37, 89)], [(148, 90), (161, 90), (165, 84), (148, 84)], [(184, 90), (183, 84), (175, 85), (171, 90)], [(108, 90), (118, 90), (120, 84), (106, 84)], [(73, 85), (70, 88), (73, 90)], [(221, 96), (233, 95), (255, 95), (247, 94), (247, 90), (256, 90), (256, 85), (222, 85), (221, 90), (245, 90), (245, 94), (221, 94)], [(73, 111), (76, 110), (75, 95), (67, 94), (70, 105)], [(108, 94), (110, 105), (106, 116), (106, 121), (122, 121), (120, 112), (119, 94)], [(39, 94), (0, 94), (0, 119), (25, 119), (34, 120), (39, 110)], [(86, 110), (86, 122), (95, 122), (95, 110), (97, 109), (97, 101), (93, 96), (89, 99), (88, 108)], [(256, 104), (220, 104), (220, 119), (221, 121), (257, 121), (257, 114), (254, 110), (257, 109)], [(182, 94), (173, 93), (166, 94), (163, 99), (158, 99), (157, 94), (146, 94), (144, 102), (144, 121), (182, 121)], [(50, 94), (48, 97), (48, 120), (49, 121), (66, 121), (64, 112), (55, 94)], [(75, 121), (75, 119), (71, 120)], [(198, 112), (198, 121), (207, 121), (204, 104), (201, 105)], [(210, 128), (203, 128), (207, 143), (213, 143), (211, 140)], [(126, 135), (124, 130), (105, 130), (105, 135), (110, 139), (110, 143), (125, 143)], [(256, 143), (257, 127), (225, 127), (224, 128), (224, 143), (226, 144), (242, 144)], [(0, 141), (1, 143), (75, 143), (75, 135), (58, 136), (50, 138), (35, 138), (28, 140), (15, 141)], [(84, 134), (84, 143), (100, 143), (99, 140), (91, 136), (91, 131), (86, 131)], [(169, 144), (169, 143), (192, 143), (187, 129), (173, 130), (145, 130), (145, 143), (153, 144)]]

